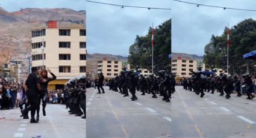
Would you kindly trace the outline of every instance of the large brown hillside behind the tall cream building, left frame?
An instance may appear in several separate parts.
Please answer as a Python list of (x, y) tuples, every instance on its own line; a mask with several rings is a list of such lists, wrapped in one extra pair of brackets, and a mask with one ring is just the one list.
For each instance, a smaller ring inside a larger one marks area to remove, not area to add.
[(46, 27), (48, 20), (57, 20), (57, 26), (84, 26), (86, 11), (69, 8), (25, 8), (8, 13), (0, 7), (0, 51), (7, 51), (14, 60), (23, 64), (22, 72), (28, 70), (31, 56), (31, 29)]

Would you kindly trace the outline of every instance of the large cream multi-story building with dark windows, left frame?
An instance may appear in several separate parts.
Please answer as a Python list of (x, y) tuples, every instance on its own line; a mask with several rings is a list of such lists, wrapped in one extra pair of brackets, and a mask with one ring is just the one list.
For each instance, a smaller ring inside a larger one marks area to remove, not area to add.
[(85, 28), (57, 28), (56, 22), (48, 22), (48, 28), (31, 32), (32, 67), (49, 68), (57, 76), (49, 89), (63, 88), (69, 79), (86, 75)]

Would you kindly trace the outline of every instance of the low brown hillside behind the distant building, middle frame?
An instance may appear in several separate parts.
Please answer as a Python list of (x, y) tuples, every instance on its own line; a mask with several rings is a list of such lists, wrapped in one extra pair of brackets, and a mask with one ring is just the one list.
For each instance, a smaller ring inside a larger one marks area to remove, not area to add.
[(103, 58), (108, 58), (108, 59), (116, 59), (119, 61), (128, 61), (127, 57), (119, 56), (119, 55), (111, 55), (111, 54), (102, 54), (102, 53), (94, 53), (94, 54), (89, 54), (87, 53), (86, 55), (86, 71), (90, 72), (93, 71), (94, 69), (98, 68), (98, 61), (102, 60)]

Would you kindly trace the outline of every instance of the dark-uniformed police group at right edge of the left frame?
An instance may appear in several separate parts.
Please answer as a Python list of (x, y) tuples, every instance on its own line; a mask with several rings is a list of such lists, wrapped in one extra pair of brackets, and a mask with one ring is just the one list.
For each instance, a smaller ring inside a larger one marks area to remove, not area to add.
[(86, 118), (86, 77), (78, 76), (69, 80), (64, 91), (68, 93), (66, 108), (70, 109), (69, 115), (83, 115), (81, 118)]

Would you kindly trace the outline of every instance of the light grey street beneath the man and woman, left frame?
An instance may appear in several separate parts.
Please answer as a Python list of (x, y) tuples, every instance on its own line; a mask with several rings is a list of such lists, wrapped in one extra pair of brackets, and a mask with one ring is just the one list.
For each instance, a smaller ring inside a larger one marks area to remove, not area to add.
[(86, 119), (76, 118), (67, 111), (64, 105), (48, 104), (46, 116), (40, 111), (39, 124), (30, 124), (30, 119), (19, 117), (19, 109), (0, 110), (0, 137), (86, 137)]

